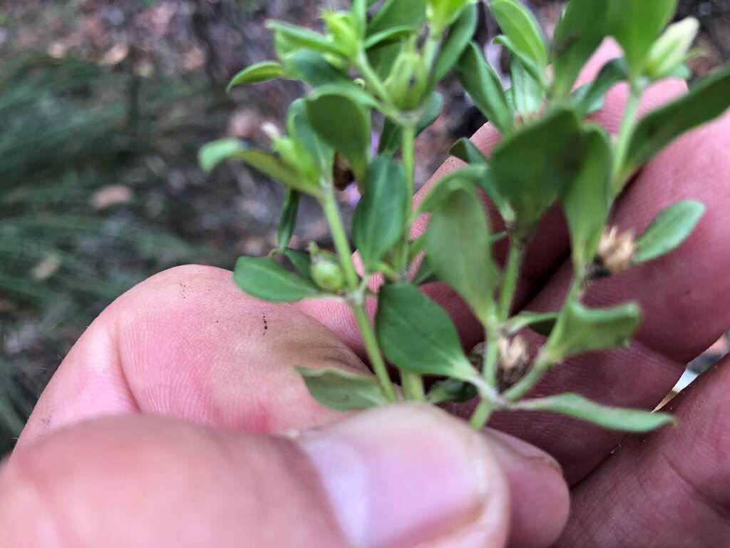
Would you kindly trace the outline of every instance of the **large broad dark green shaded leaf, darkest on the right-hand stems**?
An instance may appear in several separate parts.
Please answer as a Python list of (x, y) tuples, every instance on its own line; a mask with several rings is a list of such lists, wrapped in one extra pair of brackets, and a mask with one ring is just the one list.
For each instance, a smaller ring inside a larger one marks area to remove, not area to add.
[(580, 170), (580, 121), (574, 111), (558, 108), (497, 145), (491, 156), (499, 194), (515, 212), (515, 237), (524, 239), (542, 218), (566, 181)]

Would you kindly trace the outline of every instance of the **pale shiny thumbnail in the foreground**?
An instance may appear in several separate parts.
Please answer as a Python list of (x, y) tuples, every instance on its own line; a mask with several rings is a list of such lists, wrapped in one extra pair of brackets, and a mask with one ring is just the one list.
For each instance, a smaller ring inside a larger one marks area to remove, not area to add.
[(506, 480), (485, 438), (442, 411), (377, 408), (298, 443), (353, 547), (441, 546), (477, 522), (481, 536), (506, 535)]

